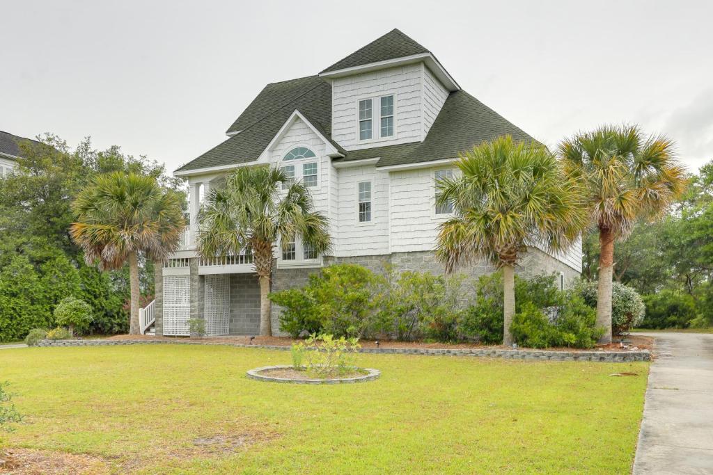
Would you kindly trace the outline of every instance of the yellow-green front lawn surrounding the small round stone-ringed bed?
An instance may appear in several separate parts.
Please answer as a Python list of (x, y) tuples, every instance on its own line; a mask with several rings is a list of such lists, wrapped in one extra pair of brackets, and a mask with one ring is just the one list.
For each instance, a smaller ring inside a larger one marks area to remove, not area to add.
[[(138, 473), (630, 473), (648, 363), (359, 355), (381, 378), (248, 380), (289, 352), (221, 346), (0, 352), (29, 424), (9, 447)], [(610, 377), (614, 372), (638, 377)], [(198, 438), (245, 437), (210, 453)]]

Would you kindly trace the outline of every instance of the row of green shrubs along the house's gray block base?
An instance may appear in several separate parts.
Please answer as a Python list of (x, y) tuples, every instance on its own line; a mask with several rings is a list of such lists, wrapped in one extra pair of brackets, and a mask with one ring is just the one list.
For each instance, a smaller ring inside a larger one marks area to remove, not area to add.
[[(381, 274), (339, 264), (309, 276), (304, 288), (272, 293), (270, 299), (282, 307), (280, 328), (294, 338), (329, 333), (446, 343), (503, 341), (501, 273), (481, 277), (473, 288), (462, 276), (391, 268)], [(555, 276), (515, 278), (515, 303), (511, 331), (520, 345), (590, 348), (602, 334), (595, 325), (596, 283), (560, 291)], [(615, 286), (614, 304), (617, 330), (641, 320), (643, 304), (631, 289)]]

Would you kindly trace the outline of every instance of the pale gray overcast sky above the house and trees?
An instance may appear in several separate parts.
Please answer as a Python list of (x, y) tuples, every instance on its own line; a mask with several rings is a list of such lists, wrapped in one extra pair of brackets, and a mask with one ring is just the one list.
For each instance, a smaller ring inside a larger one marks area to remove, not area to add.
[(267, 84), (392, 28), (548, 145), (637, 122), (713, 159), (713, 1), (5, 1), (0, 130), (120, 145), (173, 170)]

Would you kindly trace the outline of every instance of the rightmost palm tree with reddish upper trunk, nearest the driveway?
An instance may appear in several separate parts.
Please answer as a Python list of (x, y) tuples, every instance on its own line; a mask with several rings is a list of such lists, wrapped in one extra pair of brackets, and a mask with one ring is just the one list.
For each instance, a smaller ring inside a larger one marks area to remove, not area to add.
[(625, 239), (637, 219), (660, 217), (683, 191), (684, 169), (666, 137), (645, 137), (639, 127), (599, 127), (563, 140), (559, 155), (585, 193), (590, 221), (599, 231), (597, 323), (612, 340), (614, 241)]

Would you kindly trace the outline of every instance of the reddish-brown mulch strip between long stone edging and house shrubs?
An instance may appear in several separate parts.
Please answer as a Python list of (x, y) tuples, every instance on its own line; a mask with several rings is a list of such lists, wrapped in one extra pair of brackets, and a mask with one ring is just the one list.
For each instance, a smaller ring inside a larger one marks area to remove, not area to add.
[[(114, 335), (108, 340), (154, 340), (154, 341), (185, 341), (190, 343), (228, 343), (228, 344), (240, 344), (240, 345), (260, 345), (260, 346), (291, 346), (292, 343), (298, 343), (304, 340), (294, 340), (289, 337), (276, 337), (276, 336), (230, 336), (222, 338), (188, 338), (188, 337), (164, 337), (164, 336), (151, 336), (151, 335)], [(625, 345), (627, 348), (622, 348), (619, 340), (621, 337), (615, 337), (616, 343), (610, 343), (609, 345), (599, 345), (593, 350), (602, 351), (637, 351), (637, 350), (650, 350), (652, 347), (653, 338), (640, 336), (640, 335), (630, 335), (625, 338), (627, 342)], [(377, 345), (376, 342), (379, 342)], [(491, 348), (493, 350), (512, 350), (512, 348), (505, 345), (479, 345), (478, 343), (456, 343), (450, 345), (448, 343), (427, 343), (422, 341), (392, 341), (392, 340), (361, 340), (359, 341), (361, 348), (428, 348), (428, 349), (467, 349), (467, 348)], [(579, 350), (578, 348), (546, 348), (549, 351), (592, 351), (592, 350)]]

